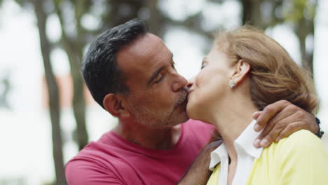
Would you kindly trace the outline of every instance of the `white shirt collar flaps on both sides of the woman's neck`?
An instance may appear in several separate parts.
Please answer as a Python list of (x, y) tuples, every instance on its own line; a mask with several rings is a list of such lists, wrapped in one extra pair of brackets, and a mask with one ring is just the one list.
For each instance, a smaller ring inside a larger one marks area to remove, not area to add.
[[(257, 148), (253, 145), (254, 140), (259, 136), (259, 132), (254, 131), (254, 125), (257, 123), (256, 120), (253, 120), (247, 128), (242, 131), (240, 136), (235, 139), (235, 147), (241, 149), (247, 155), (252, 156), (254, 158), (259, 158), (263, 151), (263, 148)], [(238, 150), (237, 150), (238, 151)], [(226, 150), (226, 146), (222, 143), (217, 149), (212, 151), (210, 154), (210, 170), (214, 170), (215, 166), (221, 162), (224, 158), (228, 158), (228, 151)]]

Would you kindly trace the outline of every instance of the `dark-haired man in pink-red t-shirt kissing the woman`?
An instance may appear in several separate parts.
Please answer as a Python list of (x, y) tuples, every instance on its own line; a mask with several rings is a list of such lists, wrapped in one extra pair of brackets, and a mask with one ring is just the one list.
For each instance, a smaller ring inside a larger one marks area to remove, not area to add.
[[(210, 151), (219, 142), (201, 150), (213, 127), (189, 120), (187, 81), (161, 39), (131, 20), (93, 41), (81, 71), (95, 101), (119, 123), (67, 163), (69, 184), (206, 183)], [(268, 124), (257, 145), (299, 129), (317, 130), (313, 115), (286, 101), (258, 116), (257, 130)]]

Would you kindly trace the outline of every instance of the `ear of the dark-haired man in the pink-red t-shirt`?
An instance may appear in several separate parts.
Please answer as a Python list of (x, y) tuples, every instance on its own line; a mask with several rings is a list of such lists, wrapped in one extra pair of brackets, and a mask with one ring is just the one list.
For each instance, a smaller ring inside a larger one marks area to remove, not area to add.
[(122, 97), (119, 95), (109, 93), (104, 97), (102, 104), (104, 104), (104, 109), (113, 116), (118, 118), (127, 118), (130, 116), (130, 112), (126, 109)]

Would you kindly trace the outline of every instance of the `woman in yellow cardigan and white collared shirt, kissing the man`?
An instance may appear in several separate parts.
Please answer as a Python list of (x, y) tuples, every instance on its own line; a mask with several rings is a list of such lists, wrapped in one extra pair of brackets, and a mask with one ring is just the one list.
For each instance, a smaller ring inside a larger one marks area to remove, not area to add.
[(312, 80), (273, 39), (250, 27), (217, 35), (189, 86), (190, 118), (216, 125), (224, 139), (211, 153), (207, 184), (328, 184), (328, 156), (312, 133), (266, 149), (252, 144), (254, 111), (278, 100), (317, 110)]

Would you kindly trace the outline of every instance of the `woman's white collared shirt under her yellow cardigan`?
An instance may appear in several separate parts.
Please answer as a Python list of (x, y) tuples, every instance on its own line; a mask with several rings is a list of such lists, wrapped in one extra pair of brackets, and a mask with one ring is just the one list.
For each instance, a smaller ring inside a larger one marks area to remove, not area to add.
[[(253, 120), (250, 125), (235, 140), (235, 151), (237, 152), (238, 163), (233, 177), (232, 185), (242, 185), (247, 183), (247, 179), (252, 170), (254, 160), (261, 156), (263, 148), (257, 149), (253, 142), (259, 136), (259, 132), (254, 131), (254, 125), (257, 121)], [(211, 153), (210, 170), (221, 162), (219, 172), (219, 185), (228, 184), (228, 151), (225, 144), (221, 144)]]

